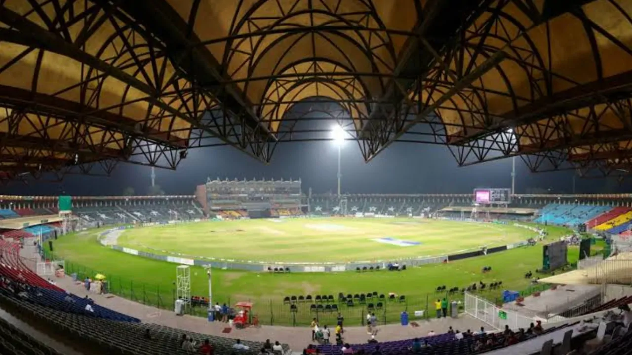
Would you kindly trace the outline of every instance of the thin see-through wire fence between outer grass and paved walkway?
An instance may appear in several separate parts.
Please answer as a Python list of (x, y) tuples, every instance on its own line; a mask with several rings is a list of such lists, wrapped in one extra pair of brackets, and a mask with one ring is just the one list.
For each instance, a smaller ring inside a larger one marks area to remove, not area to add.
[[(49, 250), (44, 249), (44, 257), (49, 260), (56, 260), (56, 256)], [(71, 260), (65, 261), (65, 271), (67, 275), (75, 275), (77, 280), (92, 278), (100, 273), (100, 270), (85, 267)], [(382, 271), (386, 272), (386, 271)], [(533, 292), (543, 291), (549, 285), (537, 284), (520, 292), (521, 296), (528, 296)], [(351, 294), (353, 306), (339, 298), (336, 294), (311, 295), (312, 301), (307, 299), (308, 295), (295, 295), (293, 299), (289, 295), (289, 300), (284, 299), (231, 299), (214, 298), (214, 302), (227, 305), (238, 301), (253, 302), (253, 316), (257, 317), (258, 323), (262, 325), (289, 325), (294, 327), (307, 326), (313, 318), (317, 318), (321, 325), (335, 325), (338, 313), (344, 316), (346, 325), (365, 325), (367, 313), (375, 313), (380, 324), (397, 323), (400, 320), (401, 312), (406, 311), (411, 321), (427, 320), (436, 316), (434, 303), (437, 299), (446, 298), (449, 303), (456, 301), (459, 313), (464, 311), (465, 295), (463, 292), (430, 292), (422, 294), (397, 295), (391, 298), (388, 292), (380, 292), (379, 289), (366, 290), (364, 300), (360, 299), (360, 294)], [(176, 286), (169, 284), (150, 284), (138, 282), (130, 277), (107, 274), (107, 292), (130, 299), (138, 303), (146, 304), (163, 310), (174, 310), (176, 301)], [(501, 289), (479, 291), (477, 296), (491, 299), (495, 304), (502, 304)], [(371, 297), (368, 298), (368, 294)], [(375, 296), (374, 296), (375, 295)], [(300, 296), (303, 296), (301, 299)], [(316, 296), (320, 296), (317, 301)], [(342, 296), (347, 298), (348, 292), (343, 292)], [(402, 298), (403, 296), (403, 298)], [(325, 301), (323, 301), (325, 299)], [(207, 316), (206, 304), (191, 303), (186, 307), (185, 312), (195, 316)]]

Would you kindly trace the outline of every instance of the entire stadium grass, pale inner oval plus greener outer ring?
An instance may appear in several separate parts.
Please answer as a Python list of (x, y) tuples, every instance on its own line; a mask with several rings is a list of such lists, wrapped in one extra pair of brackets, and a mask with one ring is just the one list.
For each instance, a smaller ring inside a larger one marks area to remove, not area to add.
[[(370, 221), (362, 220), (362, 223), (370, 224)], [(247, 231), (250, 228), (257, 228), (257, 224), (253, 224), (252, 222), (253, 221), (250, 220), (214, 223), (202, 222), (199, 224), (180, 226), (148, 227), (137, 229), (133, 233), (127, 234), (127, 236), (123, 234), (124, 238), (122, 238), (121, 241), (123, 244), (137, 249), (142, 249), (139, 248), (138, 244), (149, 244), (149, 242), (151, 242), (151, 248), (165, 248), (164, 250), (205, 256), (228, 256), (226, 254), (231, 251), (228, 244), (232, 244), (235, 250), (234, 253), (229, 254), (230, 256), (235, 258), (252, 257), (257, 260), (275, 257), (274, 255), (277, 255), (277, 248), (279, 250), (286, 250), (283, 244), (279, 244), (283, 243), (280, 242), (279, 239), (277, 239), (276, 244), (269, 244), (270, 248), (272, 248), (271, 250), (241, 248), (241, 246), (251, 245), (250, 240), (241, 235), (239, 238), (233, 237), (232, 239), (225, 237), (226, 240), (222, 241), (223, 246), (218, 245), (216, 247), (216, 243), (213, 241), (197, 244), (197, 247), (188, 244), (191, 239), (204, 238), (203, 236), (195, 237), (193, 231), (202, 233), (207, 231), (207, 234), (209, 234), (209, 230), (229, 231), (232, 229), (241, 229)], [(308, 222), (308, 220), (296, 220), (296, 222), (292, 221), (288, 223), (287, 226), (291, 226), (295, 223)], [(359, 222), (360, 221), (358, 221), (358, 223)], [(353, 219), (319, 220), (318, 223), (356, 226), (356, 220)], [(367, 239), (370, 238), (366, 236), (363, 238), (358, 234), (346, 236), (338, 235), (337, 237), (331, 234), (322, 236), (322, 238), (329, 238), (327, 239), (330, 241), (329, 243), (322, 243), (319, 238), (316, 238), (317, 240), (311, 245), (299, 243), (299, 246), (296, 246), (296, 248), (300, 248), (300, 250), (296, 250), (293, 253), (289, 253), (289, 251), (287, 253), (279, 253), (279, 260), (296, 260), (295, 258), (301, 255), (310, 256), (310, 258), (312, 258), (311, 260), (321, 260), (317, 259), (319, 256), (323, 256), (322, 261), (341, 260), (341, 256), (346, 255), (345, 253), (353, 256), (354, 260), (362, 259), (362, 257), (367, 258), (367, 255), (371, 259), (382, 256), (427, 255), (430, 253), (429, 250), (436, 251), (437, 253), (439, 253), (439, 251), (457, 251), (487, 243), (499, 243), (503, 238), (506, 238), (502, 241), (502, 244), (505, 244), (511, 243), (512, 241), (523, 240), (530, 236), (530, 232), (526, 229), (514, 229), (516, 227), (505, 226), (502, 232), (494, 232), (494, 230), (490, 232), (489, 229), (479, 229), (484, 227), (471, 223), (451, 221), (437, 221), (437, 224), (420, 224), (420, 229), (423, 228), (425, 231), (432, 231), (430, 236), (425, 236), (421, 231), (416, 233), (411, 231), (408, 229), (409, 226), (406, 225), (400, 226), (398, 224), (389, 224), (389, 222), (378, 220), (375, 220), (375, 223), (375, 231), (378, 229), (388, 231), (388, 229), (391, 228), (391, 232), (387, 235), (392, 237), (401, 237), (403, 234), (399, 232), (396, 234), (393, 231), (403, 227), (404, 229), (399, 229), (399, 231), (409, 233), (406, 234), (406, 240), (421, 241), (422, 244), (420, 244), (418, 248), (422, 251), (415, 253), (409, 250), (416, 247), (397, 247), (367, 241)], [(281, 228), (277, 227), (277, 224), (274, 224), (273, 227), (274, 229)], [(449, 232), (441, 232), (442, 228), (446, 228)], [(549, 231), (549, 239), (557, 239), (562, 234), (568, 232), (562, 227), (552, 226), (547, 227), (547, 230)], [(175, 265), (173, 263), (159, 262), (104, 248), (97, 241), (99, 231), (100, 230), (95, 229), (71, 234), (63, 236), (54, 242), (56, 256), (66, 260), (66, 271), (68, 273), (78, 272), (80, 276), (94, 275), (97, 272), (102, 273), (108, 277), (112, 293), (139, 302), (171, 309), (174, 299)], [(300, 230), (293, 231), (295, 231), (296, 234), (292, 238), (299, 239), (299, 241), (306, 239)], [(376, 232), (375, 235), (384, 236), (382, 232)], [(459, 236), (458, 239), (454, 237), (457, 235)], [(154, 236), (153, 239), (152, 236)], [(468, 238), (468, 236), (470, 236), (470, 238)], [(274, 236), (274, 238), (282, 237), (289, 238), (281, 234)], [(353, 253), (353, 243), (345, 241), (345, 248), (341, 248), (337, 245), (341, 244), (340, 238), (346, 240), (347, 237), (355, 239), (357, 241), (356, 243), (360, 244), (358, 248), (362, 250), (362, 257), (356, 257), (355, 253)], [(260, 235), (255, 235), (253, 238), (264, 239)], [(338, 238), (337, 243), (332, 241), (336, 238)], [(258, 243), (258, 245), (260, 245), (260, 243)], [(363, 249), (367, 244), (373, 246), (372, 251)], [(318, 251), (314, 251), (312, 248), (316, 248)], [(424, 248), (427, 249), (424, 250)], [(240, 249), (247, 250), (241, 251)], [(257, 250), (258, 254), (254, 254)], [(573, 263), (577, 258), (577, 248), (569, 248), (569, 262)], [(491, 266), (492, 272), (484, 275), (481, 274), (480, 270), (483, 266)], [(310, 313), (308, 306), (300, 306), (298, 313), (290, 313), (289, 306), (283, 304), (282, 301), (285, 296), (333, 294), (335, 297), (338, 292), (355, 294), (372, 291), (377, 291), (380, 294), (395, 292), (396, 294), (406, 296), (406, 303), (385, 304), (384, 310), (380, 311), (380, 319), (384, 320), (384, 322), (396, 322), (400, 311), (425, 310), (428, 305), (432, 307), (431, 303), (435, 298), (446, 296), (445, 294), (436, 294), (434, 292), (437, 286), (445, 284), (448, 288), (453, 286), (465, 287), (468, 284), (480, 280), (488, 283), (502, 280), (503, 289), (520, 291), (528, 287), (529, 284), (528, 280), (523, 278), (523, 274), (528, 270), (535, 270), (540, 267), (542, 267), (542, 247), (538, 245), (535, 247), (516, 248), (514, 250), (459, 260), (447, 264), (431, 264), (422, 267), (414, 267), (404, 272), (268, 274), (218, 269), (213, 271), (212, 282), (214, 301), (230, 304), (234, 304), (236, 301), (253, 301), (255, 304), (254, 313), (258, 315), (261, 323), (304, 325), (309, 322), (313, 314)], [(191, 294), (205, 296), (207, 292), (207, 276), (205, 270), (200, 267), (191, 267)], [(487, 298), (494, 298), (498, 296), (499, 292), (500, 291), (490, 292), (485, 296), (487, 296)], [(453, 296), (451, 298), (459, 298), (459, 296)], [(341, 306), (341, 311), (348, 319), (349, 324), (359, 324), (362, 322), (362, 315), (363, 312), (365, 312), (365, 308), (358, 306), (355, 308), (346, 308), (346, 306)], [(328, 317), (331, 318), (333, 315), (319, 314), (319, 318), (322, 319), (322, 322), (327, 322)]]

